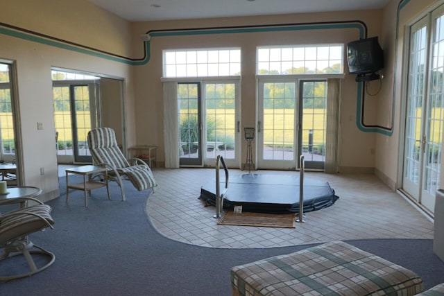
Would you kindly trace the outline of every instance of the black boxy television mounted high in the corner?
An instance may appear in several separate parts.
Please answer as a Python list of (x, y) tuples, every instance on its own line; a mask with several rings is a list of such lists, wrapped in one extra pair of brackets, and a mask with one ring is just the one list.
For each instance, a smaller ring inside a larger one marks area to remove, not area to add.
[(347, 54), (350, 74), (375, 73), (384, 67), (384, 53), (377, 37), (350, 42)]

